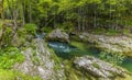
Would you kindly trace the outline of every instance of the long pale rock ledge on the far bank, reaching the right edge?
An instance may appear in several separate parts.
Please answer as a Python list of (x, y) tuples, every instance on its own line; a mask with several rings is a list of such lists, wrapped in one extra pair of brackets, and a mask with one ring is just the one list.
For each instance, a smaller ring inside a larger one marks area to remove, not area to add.
[(106, 36), (82, 33), (79, 37), (82, 41), (96, 44), (96, 47), (102, 50), (123, 53), (127, 56), (132, 57), (132, 38), (128, 36)]

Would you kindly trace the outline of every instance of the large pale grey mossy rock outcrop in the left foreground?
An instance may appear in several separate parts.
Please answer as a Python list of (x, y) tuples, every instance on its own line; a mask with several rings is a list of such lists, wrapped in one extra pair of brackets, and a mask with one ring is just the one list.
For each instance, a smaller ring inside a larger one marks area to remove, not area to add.
[(31, 76), (38, 76), (43, 80), (63, 80), (65, 78), (63, 69), (54, 69), (56, 66), (52, 59), (52, 53), (44, 46), (41, 38), (31, 43), (32, 47), (26, 48), (23, 53), (25, 60), (14, 66), (15, 70), (20, 70)]

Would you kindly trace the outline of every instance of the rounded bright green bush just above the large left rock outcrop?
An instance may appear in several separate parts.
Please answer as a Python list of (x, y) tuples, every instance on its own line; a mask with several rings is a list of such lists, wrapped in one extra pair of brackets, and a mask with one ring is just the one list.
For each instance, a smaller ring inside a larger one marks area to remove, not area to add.
[(25, 24), (24, 25), (24, 28), (25, 28), (25, 31), (29, 33), (29, 34), (35, 34), (36, 33), (36, 30), (37, 30), (37, 26), (35, 25), (35, 24), (31, 24), (31, 23), (29, 23), (29, 24)]

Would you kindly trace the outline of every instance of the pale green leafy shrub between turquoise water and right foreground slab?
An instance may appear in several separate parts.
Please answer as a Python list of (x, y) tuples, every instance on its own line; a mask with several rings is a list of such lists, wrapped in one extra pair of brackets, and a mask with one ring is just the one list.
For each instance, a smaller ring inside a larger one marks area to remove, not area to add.
[(122, 53), (101, 52), (100, 58), (113, 65), (120, 65), (125, 56)]

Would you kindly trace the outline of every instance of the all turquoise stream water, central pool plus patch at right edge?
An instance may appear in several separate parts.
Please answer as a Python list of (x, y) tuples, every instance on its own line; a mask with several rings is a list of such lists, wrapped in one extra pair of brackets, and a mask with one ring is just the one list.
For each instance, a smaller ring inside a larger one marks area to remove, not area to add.
[[(48, 46), (52, 47), (55, 50), (56, 55), (63, 59), (70, 59), (75, 56), (84, 55), (90, 55), (100, 58), (100, 50), (92, 46), (89, 47), (90, 44), (85, 44), (84, 47), (81, 47), (84, 48), (84, 50), (80, 50), (75, 46), (61, 42), (48, 42)], [(132, 58), (125, 58), (120, 66), (132, 72)]]

